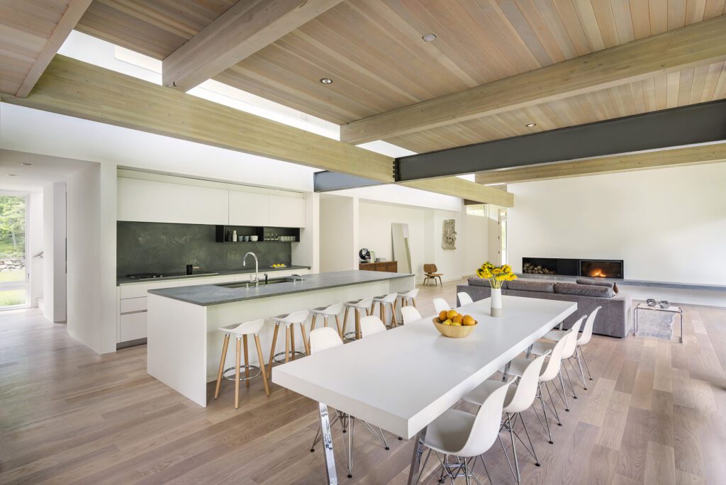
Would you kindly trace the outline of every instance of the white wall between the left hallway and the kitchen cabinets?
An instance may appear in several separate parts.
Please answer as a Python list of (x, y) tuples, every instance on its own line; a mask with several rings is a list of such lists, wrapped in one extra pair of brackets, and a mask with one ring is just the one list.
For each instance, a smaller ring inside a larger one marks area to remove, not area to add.
[(68, 175), (68, 333), (115, 351), (115, 167)]

